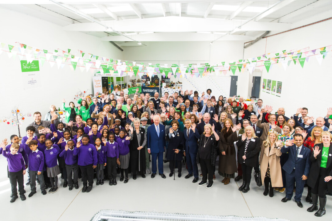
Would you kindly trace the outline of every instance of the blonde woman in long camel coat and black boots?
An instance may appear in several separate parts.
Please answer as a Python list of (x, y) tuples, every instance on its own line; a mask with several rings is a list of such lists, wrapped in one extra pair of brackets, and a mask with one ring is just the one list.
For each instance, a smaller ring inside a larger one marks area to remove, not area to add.
[(269, 192), (270, 197), (273, 196), (273, 187), (282, 187), (283, 178), (281, 175), (280, 156), (282, 142), (278, 139), (278, 133), (271, 131), (268, 138), (263, 141), (259, 164), (261, 165), (262, 183), (265, 185), (264, 195)]

